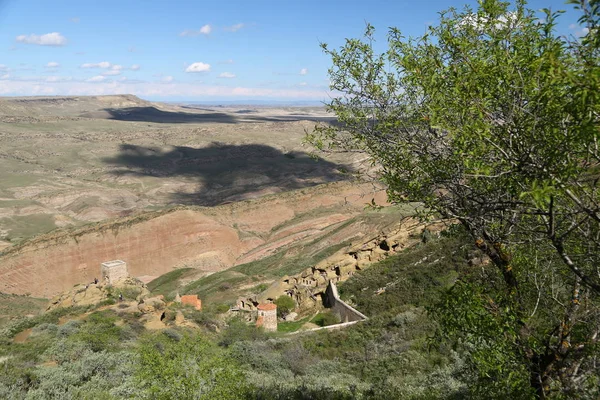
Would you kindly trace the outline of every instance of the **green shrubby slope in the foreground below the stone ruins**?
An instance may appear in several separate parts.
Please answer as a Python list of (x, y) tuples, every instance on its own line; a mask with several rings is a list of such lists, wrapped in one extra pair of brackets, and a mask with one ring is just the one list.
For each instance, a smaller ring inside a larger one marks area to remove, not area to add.
[(468, 383), (460, 355), (431, 345), (426, 310), (469, 268), (469, 248), (462, 235), (444, 236), (356, 274), (340, 290), (370, 319), (342, 331), (266, 334), (210, 307), (182, 309), (196, 329), (149, 331), (135, 315), (102, 305), (13, 323), (0, 342), (0, 397), (459, 396)]

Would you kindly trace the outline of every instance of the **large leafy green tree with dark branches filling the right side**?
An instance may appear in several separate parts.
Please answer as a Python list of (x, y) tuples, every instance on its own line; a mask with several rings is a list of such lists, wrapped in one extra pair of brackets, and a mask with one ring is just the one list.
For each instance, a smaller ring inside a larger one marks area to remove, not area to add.
[(481, 0), (419, 38), (391, 29), (382, 54), (370, 25), (323, 44), (339, 124), (308, 140), (367, 152), (392, 201), (458, 221), (492, 261), (434, 311), (488, 396), (597, 395), (600, 2), (573, 3), (583, 40), (560, 13)]

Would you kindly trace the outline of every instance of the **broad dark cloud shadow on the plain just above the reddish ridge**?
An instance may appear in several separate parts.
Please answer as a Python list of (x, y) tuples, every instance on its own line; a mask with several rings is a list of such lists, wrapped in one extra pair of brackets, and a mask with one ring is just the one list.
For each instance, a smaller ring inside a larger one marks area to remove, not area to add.
[(260, 145), (212, 143), (208, 147), (169, 150), (121, 145), (120, 153), (103, 160), (117, 175), (191, 178), (185, 193), (172, 193), (178, 204), (214, 206), (273, 192), (349, 179), (347, 166), (303, 152), (282, 153)]

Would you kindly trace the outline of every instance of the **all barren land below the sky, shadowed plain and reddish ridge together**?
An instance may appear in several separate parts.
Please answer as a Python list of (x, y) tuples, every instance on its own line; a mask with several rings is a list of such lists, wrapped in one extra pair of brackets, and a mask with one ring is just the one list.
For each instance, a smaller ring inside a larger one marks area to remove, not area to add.
[(281, 251), (308, 260), (397, 223), (362, 217), (386, 204), (353, 179), (363, 155), (309, 154), (318, 121), (332, 122), (318, 107), (0, 99), (0, 292), (48, 298), (112, 259), (145, 282)]

